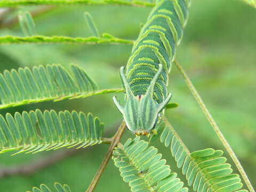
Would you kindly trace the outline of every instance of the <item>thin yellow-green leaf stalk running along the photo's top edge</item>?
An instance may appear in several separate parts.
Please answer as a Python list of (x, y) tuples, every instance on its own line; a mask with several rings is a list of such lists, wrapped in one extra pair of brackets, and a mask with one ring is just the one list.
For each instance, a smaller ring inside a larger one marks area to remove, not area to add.
[(17, 7), (20, 5), (126, 5), (126, 6), (140, 6), (152, 7), (155, 3), (149, 3), (146, 1), (122, 1), (122, 0), (2, 0), (0, 2), (0, 7)]

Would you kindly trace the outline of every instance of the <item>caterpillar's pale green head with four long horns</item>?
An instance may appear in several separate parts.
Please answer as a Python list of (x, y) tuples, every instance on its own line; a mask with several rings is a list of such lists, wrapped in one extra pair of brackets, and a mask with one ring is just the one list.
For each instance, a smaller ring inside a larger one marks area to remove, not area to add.
[(153, 99), (154, 86), (158, 77), (161, 75), (163, 65), (159, 64), (159, 69), (148, 86), (145, 95), (133, 95), (131, 87), (124, 75), (124, 67), (120, 69), (120, 75), (125, 87), (126, 102), (124, 107), (120, 105), (117, 98), (114, 97), (114, 103), (118, 110), (123, 114), (124, 121), (127, 128), (135, 135), (148, 135), (158, 120), (158, 114), (161, 113), (163, 108), (171, 99), (172, 94), (169, 93), (162, 103), (157, 103)]

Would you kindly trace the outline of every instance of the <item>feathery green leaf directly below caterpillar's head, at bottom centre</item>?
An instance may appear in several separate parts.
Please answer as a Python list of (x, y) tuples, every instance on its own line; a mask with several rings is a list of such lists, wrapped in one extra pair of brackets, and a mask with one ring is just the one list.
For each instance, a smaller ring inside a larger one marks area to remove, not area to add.
[(177, 173), (171, 173), (166, 160), (161, 159), (155, 147), (149, 147), (148, 142), (128, 139), (124, 145), (119, 143), (113, 152), (115, 165), (119, 167), (125, 182), (129, 182), (133, 192), (185, 192), (183, 182), (177, 178)]

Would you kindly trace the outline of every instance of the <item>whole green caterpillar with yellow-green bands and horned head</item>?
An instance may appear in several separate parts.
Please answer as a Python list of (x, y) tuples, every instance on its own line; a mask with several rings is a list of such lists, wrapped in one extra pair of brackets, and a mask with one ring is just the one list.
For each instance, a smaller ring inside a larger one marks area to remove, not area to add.
[(168, 74), (188, 17), (190, 0), (162, 0), (156, 3), (140, 31), (120, 75), (125, 88), (125, 106), (113, 98), (123, 114), (127, 129), (148, 135), (171, 99)]

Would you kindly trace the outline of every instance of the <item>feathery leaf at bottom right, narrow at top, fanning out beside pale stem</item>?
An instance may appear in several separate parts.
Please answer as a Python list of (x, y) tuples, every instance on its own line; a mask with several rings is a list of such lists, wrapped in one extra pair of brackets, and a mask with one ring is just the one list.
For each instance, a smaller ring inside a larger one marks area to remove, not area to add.
[(156, 127), (157, 134), (151, 140), (159, 138), (165, 147), (171, 147), (172, 156), (177, 166), (182, 168), (188, 185), (198, 192), (245, 192), (239, 190), (243, 184), (238, 174), (232, 174), (231, 165), (222, 157), (222, 150), (204, 149), (189, 153), (186, 146), (180, 142), (171, 125), (161, 122)]

